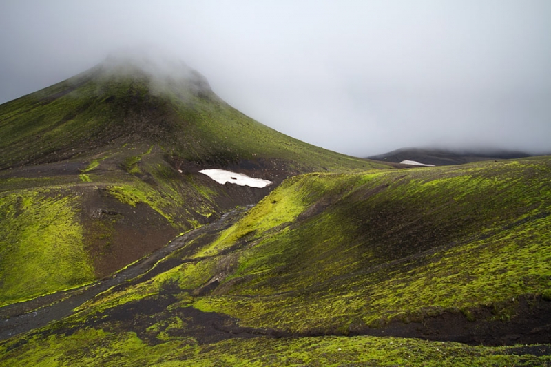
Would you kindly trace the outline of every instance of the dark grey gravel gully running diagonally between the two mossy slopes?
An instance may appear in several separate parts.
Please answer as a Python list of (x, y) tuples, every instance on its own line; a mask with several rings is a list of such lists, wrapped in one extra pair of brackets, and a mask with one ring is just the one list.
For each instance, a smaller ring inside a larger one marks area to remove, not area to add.
[[(157, 263), (159, 263), (159, 268), (163, 268), (163, 261), (161, 261), (163, 258), (178, 249), (182, 249), (186, 244), (201, 235), (205, 235), (205, 233), (215, 235), (226, 229), (235, 223), (245, 213), (246, 209), (249, 209), (249, 207), (233, 209), (233, 211), (223, 214), (216, 222), (180, 235), (167, 246), (154, 251), (146, 258), (138, 260), (135, 264), (104, 280), (72, 291), (58, 292), (54, 295), (46, 295), (28, 302), (20, 302), (0, 308), (0, 340), (8, 339), (14, 335), (40, 328), (49, 322), (67, 317), (73, 313), (74, 308), (88, 300), (92, 300), (99, 293), (156, 269), (154, 266)], [(158, 272), (153, 271), (153, 273)]]

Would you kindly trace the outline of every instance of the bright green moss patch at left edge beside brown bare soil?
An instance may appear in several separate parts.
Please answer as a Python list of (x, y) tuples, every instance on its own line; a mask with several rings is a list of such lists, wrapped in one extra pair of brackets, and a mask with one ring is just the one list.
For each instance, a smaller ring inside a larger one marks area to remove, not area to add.
[(94, 280), (77, 198), (49, 189), (0, 196), (0, 304)]

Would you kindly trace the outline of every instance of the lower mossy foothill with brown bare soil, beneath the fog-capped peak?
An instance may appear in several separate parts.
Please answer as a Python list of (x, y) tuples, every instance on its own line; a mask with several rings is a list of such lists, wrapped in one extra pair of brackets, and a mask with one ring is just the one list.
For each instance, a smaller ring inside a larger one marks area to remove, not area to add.
[(0, 306), (105, 277), (267, 193), (180, 174), (158, 151), (1, 171)]

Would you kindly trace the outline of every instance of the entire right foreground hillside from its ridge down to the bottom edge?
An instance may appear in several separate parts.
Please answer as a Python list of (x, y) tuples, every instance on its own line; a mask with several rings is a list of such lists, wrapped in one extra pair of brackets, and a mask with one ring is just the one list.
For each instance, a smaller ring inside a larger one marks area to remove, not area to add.
[(551, 157), (288, 178), (0, 363), (546, 366), (550, 180)]

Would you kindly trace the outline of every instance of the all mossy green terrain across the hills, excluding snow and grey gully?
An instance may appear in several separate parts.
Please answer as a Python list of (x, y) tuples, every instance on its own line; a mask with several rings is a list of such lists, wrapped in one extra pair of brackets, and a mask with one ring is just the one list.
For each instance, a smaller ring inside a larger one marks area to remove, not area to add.
[[(255, 204), (3, 340), (1, 366), (551, 365), (551, 157), (390, 169), (193, 80), (99, 68), (0, 106), (0, 313)], [(198, 173), (220, 168), (275, 184)]]

